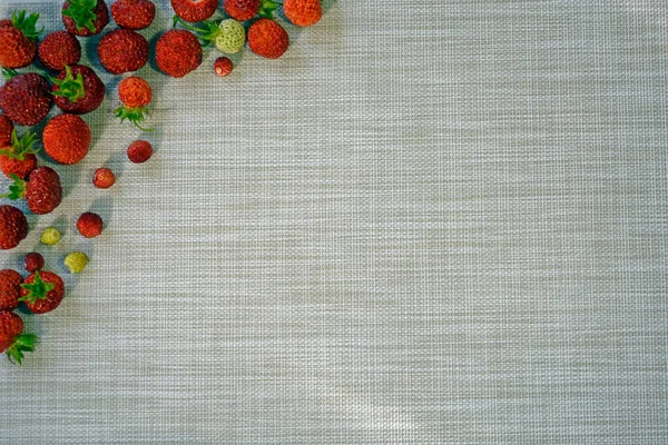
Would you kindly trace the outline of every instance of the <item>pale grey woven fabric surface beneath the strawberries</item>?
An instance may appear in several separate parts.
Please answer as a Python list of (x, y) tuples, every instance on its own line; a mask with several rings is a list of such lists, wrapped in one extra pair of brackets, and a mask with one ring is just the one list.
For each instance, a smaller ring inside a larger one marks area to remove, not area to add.
[(0, 441), (666, 443), (667, 3), (325, 7), (229, 78), (215, 50), (180, 80), (141, 69), (155, 134), (114, 120), (105, 73), (63, 204), (1, 254), (38, 249), (68, 295), (0, 360)]

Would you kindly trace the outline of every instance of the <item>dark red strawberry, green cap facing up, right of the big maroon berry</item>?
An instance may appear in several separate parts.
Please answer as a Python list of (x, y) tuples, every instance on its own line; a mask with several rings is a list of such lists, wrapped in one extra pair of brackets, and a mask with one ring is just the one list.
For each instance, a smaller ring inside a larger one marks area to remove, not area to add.
[(51, 79), (53, 101), (65, 112), (84, 115), (97, 109), (107, 88), (91, 68), (84, 65), (65, 67), (57, 78)]

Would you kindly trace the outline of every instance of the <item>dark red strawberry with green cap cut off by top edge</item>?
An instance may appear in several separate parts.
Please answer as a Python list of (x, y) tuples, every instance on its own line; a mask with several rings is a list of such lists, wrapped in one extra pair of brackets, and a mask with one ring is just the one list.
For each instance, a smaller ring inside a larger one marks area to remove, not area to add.
[(66, 0), (61, 12), (65, 29), (75, 36), (99, 34), (109, 23), (105, 0)]

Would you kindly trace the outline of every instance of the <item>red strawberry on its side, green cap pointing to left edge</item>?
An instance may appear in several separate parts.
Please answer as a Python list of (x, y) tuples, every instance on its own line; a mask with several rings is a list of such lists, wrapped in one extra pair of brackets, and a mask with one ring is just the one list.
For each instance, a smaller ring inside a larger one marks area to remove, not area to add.
[(28, 177), (28, 181), (11, 175), (14, 184), (9, 186), (9, 192), (2, 195), (16, 200), (26, 198), (30, 211), (37, 215), (50, 214), (62, 200), (60, 177), (50, 167), (38, 167)]

